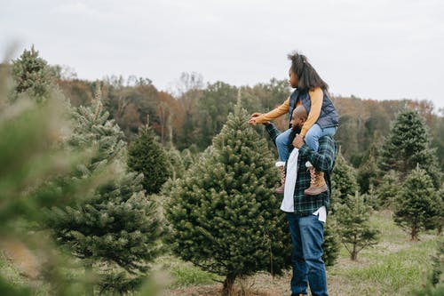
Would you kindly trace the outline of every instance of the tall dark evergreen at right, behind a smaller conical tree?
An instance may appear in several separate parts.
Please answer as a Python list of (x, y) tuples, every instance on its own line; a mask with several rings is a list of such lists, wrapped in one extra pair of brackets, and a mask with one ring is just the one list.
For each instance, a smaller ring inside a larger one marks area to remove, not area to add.
[(385, 140), (379, 166), (387, 172), (400, 172), (402, 180), (419, 165), (431, 177), (435, 188), (439, 189), (441, 176), (435, 149), (430, 148), (431, 138), (424, 118), (415, 110), (401, 112), (392, 124)]

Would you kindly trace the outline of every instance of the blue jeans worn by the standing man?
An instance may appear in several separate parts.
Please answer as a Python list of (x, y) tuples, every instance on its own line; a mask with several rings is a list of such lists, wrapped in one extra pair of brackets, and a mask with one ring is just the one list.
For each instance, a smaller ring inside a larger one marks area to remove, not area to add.
[(293, 244), (291, 263), (291, 295), (306, 294), (307, 286), (313, 296), (328, 296), (325, 264), (322, 260), (324, 224), (318, 216), (298, 217), (287, 212), (289, 234)]

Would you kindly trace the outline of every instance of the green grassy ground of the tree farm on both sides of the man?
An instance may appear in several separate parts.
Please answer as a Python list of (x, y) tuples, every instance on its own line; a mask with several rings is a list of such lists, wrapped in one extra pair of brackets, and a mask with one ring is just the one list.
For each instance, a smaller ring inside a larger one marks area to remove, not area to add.
[[(425, 283), (438, 236), (428, 232), (418, 242), (410, 241), (394, 224), (390, 211), (374, 212), (370, 223), (381, 231), (379, 243), (360, 252), (357, 261), (350, 260), (341, 246), (336, 264), (327, 269), (329, 295), (407, 295)], [(171, 275), (163, 296), (218, 295), (222, 289), (222, 284), (213, 280), (222, 281), (222, 276), (210, 275), (190, 263), (163, 257), (157, 264)], [(290, 278), (290, 271), (274, 278), (258, 273), (237, 280), (235, 288), (240, 295), (289, 295)]]

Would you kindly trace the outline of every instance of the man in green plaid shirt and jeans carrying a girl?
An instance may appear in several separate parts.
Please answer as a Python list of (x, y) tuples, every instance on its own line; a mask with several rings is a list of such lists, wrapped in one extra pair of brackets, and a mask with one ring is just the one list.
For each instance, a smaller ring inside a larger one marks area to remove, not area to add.
[[(287, 162), (288, 177), (285, 182), (281, 210), (286, 212), (293, 244), (291, 295), (306, 295), (309, 285), (313, 296), (326, 296), (329, 295), (327, 276), (321, 257), (324, 223), (331, 196), (331, 172), (335, 165), (337, 145), (333, 138), (324, 136), (319, 140), (318, 151), (308, 147), (298, 134), (306, 117), (303, 106), (294, 110), (291, 121), (294, 149)], [(266, 130), (273, 140), (279, 135), (273, 124), (266, 124)], [(305, 189), (310, 187), (310, 172), (305, 166), (307, 162), (313, 164), (316, 170), (324, 172), (327, 191), (316, 196), (305, 195)]]

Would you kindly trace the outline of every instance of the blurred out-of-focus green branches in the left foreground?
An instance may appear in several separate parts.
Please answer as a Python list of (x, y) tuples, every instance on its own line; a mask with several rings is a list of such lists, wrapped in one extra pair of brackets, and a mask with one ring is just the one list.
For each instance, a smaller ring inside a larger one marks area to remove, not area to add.
[[(89, 178), (75, 175), (96, 151), (92, 146), (75, 150), (66, 145), (71, 137), (72, 109), (51, 80), (40, 79), (50, 77), (45, 62), (41, 68), (28, 67), (32, 58), (42, 62), (36, 57), (32, 48), (12, 66), (4, 63), (0, 67), (0, 248), (20, 274), (49, 284), (51, 294), (79, 295), (91, 291), (94, 276), (67, 276), (67, 268), (79, 267), (52, 244), (50, 233), (41, 228), (46, 219), (42, 209), (91, 197), (94, 188), (109, 180), (115, 168), (103, 167)], [(22, 71), (17, 72), (17, 68)], [(20, 76), (11, 76), (11, 72)], [(23, 77), (36, 79), (38, 84), (20, 82)], [(67, 182), (60, 181), (67, 176)], [(34, 292), (0, 276), (0, 294)]]

